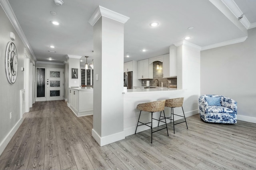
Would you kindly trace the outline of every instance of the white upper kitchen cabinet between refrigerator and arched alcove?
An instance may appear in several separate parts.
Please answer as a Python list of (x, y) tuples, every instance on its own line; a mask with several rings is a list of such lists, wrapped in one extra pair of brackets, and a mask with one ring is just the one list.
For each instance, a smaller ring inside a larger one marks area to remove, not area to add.
[(149, 59), (138, 61), (138, 79), (153, 79), (153, 63)]

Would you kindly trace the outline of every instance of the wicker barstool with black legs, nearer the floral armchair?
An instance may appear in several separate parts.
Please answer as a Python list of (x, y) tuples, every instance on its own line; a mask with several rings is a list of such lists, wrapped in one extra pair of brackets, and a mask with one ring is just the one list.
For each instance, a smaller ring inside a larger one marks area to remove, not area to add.
[[(179, 123), (186, 122), (186, 126), (187, 126), (187, 129), (188, 129), (188, 124), (187, 124), (186, 117), (185, 117), (185, 114), (184, 114), (184, 110), (183, 110), (183, 107), (182, 107), (182, 105), (183, 105), (183, 100), (184, 100), (184, 98), (175, 98), (175, 99), (168, 99), (168, 100), (166, 100), (166, 102), (165, 102), (165, 107), (171, 107), (171, 116), (170, 116), (170, 117), (165, 117), (165, 115), (164, 115), (164, 116), (161, 116), (161, 113), (160, 113), (159, 120), (162, 120), (162, 119), (170, 119), (170, 120), (171, 120), (171, 123), (172, 123), (172, 121), (173, 121), (173, 132), (174, 132), (174, 133), (175, 133), (174, 125), (177, 125), (177, 124), (179, 124)], [(174, 114), (174, 111), (173, 111), (173, 108), (174, 108), (174, 107), (181, 107), (184, 116)], [(180, 117), (184, 117), (185, 121), (182, 121), (182, 122), (179, 122), (179, 123), (174, 124), (174, 115), (180, 116)], [(161, 117), (164, 117), (164, 118), (161, 119)], [(158, 122), (158, 126), (159, 126), (159, 122)]]

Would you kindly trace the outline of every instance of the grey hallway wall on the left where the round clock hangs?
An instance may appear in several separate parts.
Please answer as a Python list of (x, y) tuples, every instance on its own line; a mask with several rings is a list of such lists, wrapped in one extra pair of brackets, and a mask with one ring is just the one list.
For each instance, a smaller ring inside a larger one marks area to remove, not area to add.
[[(22, 119), (20, 119), (20, 90), (24, 89), (24, 48), (25, 45), (14, 29), (12, 23), (0, 6), (0, 154), (10, 141), (12, 135), (18, 129)], [(16, 40), (10, 39), (10, 31), (16, 35)], [(9, 84), (5, 72), (6, 46), (12, 41), (18, 53), (18, 76), (14, 84)], [(12, 119), (10, 119), (12, 112)]]

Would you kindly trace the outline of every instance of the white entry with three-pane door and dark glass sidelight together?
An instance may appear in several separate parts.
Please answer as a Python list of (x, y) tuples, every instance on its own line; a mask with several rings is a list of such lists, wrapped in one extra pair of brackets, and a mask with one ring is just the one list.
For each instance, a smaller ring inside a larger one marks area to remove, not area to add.
[(63, 68), (36, 68), (36, 101), (63, 100)]

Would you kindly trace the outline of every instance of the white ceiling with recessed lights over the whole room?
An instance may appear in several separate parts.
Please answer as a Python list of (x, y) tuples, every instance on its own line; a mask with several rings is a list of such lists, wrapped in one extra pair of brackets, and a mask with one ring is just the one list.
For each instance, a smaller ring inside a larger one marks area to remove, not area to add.
[[(125, 62), (169, 53), (170, 45), (186, 36), (202, 50), (244, 41), (247, 29), (256, 27), (255, 0), (64, 0), (62, 6), (53, 0), (3, 1), (10, 3), (30, 53), (42, 62), (64, 63), (66, 55), (78, 55), (89, 56), (91, 63), (93, 27), (88, 21), (98, 6), (130, 18), (124, 24)], [(151, 27), (153, 21), (159, 25)]]

